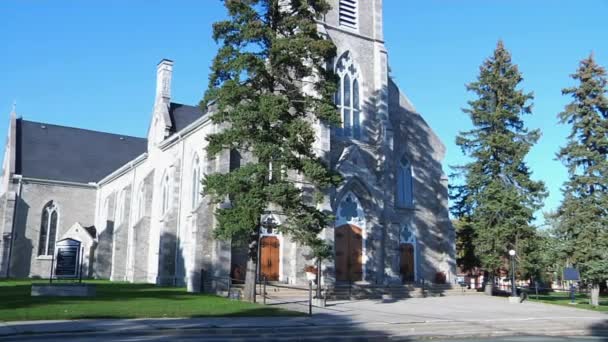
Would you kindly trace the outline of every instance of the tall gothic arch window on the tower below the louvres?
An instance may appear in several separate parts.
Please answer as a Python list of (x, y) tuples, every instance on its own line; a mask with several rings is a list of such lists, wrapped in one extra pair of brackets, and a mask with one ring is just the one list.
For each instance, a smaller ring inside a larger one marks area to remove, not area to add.
[(350, 52), (340, 57), (336, 64), (336, 73), (340, 77), (336, 105), (342, 118), (342, 127), (338, 130), (338, 135), (359, 139), (361, 138), (360, 76)]

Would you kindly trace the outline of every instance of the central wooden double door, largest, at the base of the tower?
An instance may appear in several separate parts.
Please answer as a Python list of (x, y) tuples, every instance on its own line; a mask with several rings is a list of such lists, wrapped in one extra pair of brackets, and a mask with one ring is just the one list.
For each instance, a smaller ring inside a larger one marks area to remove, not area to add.
[(361, 228), (350, 224), (334, 229), (336, 280), (363, 280), (363, 236)]

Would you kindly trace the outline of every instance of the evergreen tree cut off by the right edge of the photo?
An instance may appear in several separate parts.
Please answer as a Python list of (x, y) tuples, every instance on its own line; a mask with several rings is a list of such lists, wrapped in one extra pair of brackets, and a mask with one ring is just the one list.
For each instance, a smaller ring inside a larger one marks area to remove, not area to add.
[(583, 280), (593, 286), (599, 305), (600, 282), (608, 279), (608, 93), (606, 70), (593, 55), (582, 60), (572, 78), (578, 84), (562, 90), (570, 102), (559, 114), (571, 125), (566, 146), (557, 157), (568, 168), (564, 199), (558, 210), (558, 234)]

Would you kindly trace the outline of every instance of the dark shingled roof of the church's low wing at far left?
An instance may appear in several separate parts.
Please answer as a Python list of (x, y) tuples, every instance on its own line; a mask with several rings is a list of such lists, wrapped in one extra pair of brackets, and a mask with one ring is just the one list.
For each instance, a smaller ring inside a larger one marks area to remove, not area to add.
[(147, 139), (17, 120), (16, 173), (97, 182), (146, 152)]

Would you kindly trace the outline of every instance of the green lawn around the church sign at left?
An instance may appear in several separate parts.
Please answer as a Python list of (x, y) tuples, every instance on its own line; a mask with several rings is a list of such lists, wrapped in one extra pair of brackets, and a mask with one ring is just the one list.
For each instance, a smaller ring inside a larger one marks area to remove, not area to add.
[[(0, 321), (217, 316), (293, 316), (292, 311), (188, 294), (184, 288), (86, 281), (95, 298), (31, 297), (32, 280), (0, 280)], [(44, 281), (42, 281), (44, 282)]]

